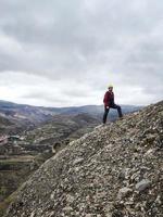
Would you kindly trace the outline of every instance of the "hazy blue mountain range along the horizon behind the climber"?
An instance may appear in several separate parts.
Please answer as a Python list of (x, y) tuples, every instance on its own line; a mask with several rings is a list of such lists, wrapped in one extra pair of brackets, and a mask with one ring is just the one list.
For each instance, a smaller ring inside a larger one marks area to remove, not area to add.
[[(140, 110), (142, 106), (122, 105), (123, 113)], [(35, 126), (50, 120), (57, 115), (88, 114), (100, 122), (103, 114), (103, 105), (85, 105), (70, 107), (42, 107), (26, 104), (16, 104), (0, 100), (0, 135), (16, 133), (25, 129), (34, 129)], [(110, 120), (117, 117), (116, 111), (110, 111)]]

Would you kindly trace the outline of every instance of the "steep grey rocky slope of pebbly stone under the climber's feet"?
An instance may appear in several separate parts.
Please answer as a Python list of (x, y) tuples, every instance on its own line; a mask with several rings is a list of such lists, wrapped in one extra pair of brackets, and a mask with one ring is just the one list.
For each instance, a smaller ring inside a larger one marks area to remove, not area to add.
[(47, 161), (5, 217), (161, 217), (163, 102), (100, 126)]

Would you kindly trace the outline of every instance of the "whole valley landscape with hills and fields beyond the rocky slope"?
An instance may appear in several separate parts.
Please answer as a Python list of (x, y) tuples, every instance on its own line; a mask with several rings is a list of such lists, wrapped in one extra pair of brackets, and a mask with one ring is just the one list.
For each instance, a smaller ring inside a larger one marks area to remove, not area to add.
[[(125, 106), (124, 113), (139, 107)], [(48, 108), (0, 101), (0, 215), (42, 163), (101, 124), (103, 106)], [(110, 122), (117, 118), (111, 112)]]

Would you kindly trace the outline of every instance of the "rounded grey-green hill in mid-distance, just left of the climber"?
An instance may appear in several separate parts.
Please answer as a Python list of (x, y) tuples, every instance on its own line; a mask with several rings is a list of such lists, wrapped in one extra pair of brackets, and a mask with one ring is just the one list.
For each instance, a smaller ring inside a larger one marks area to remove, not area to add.
[(26, 141), (33, 144), (51, 145), (64, 139), (74, 140), (91, 131), (100, 122), (89, 114), (59, 114), (34, 130), (25, 132)]

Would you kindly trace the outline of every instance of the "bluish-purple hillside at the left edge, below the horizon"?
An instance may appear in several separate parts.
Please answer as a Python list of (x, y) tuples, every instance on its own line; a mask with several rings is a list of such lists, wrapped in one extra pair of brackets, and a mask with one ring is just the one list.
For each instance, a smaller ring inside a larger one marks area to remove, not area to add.
[[(51, 119), (53, 113), (43, 107), (25, 104), (16, 104), (8, 101), (0, 101), (0, 135), (21, 133), (24, 130), (34, 129), (40, 123)], [(5, 126), (2, 120), (10, 123)]]

